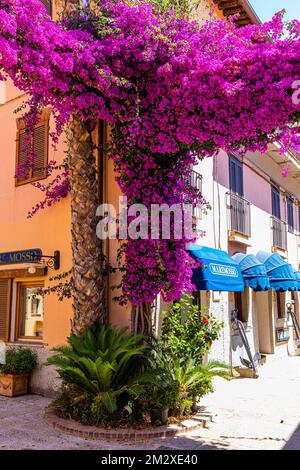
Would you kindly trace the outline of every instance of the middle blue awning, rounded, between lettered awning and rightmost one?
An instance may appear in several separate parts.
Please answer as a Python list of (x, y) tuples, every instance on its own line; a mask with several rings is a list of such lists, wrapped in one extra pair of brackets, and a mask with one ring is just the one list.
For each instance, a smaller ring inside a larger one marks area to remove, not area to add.
[(271, 288), (266, 267), (254, 255), (237, 253), (233, 259), (239, 264), (246, 286), (257, 292)]

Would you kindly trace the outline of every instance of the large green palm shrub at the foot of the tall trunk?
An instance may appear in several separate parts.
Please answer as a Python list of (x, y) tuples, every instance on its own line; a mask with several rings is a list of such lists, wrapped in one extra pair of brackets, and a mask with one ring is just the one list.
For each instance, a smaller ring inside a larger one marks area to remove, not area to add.
[(78, 391), (75, 401), (90, 401), (91, 413), (101, 420), (118, 410), (124, 394), (137, 397), (141, 393), (137, 377), (149, 354), (143, 340), (141, 335), (128, 334), (126, 328), (97, 325), (86, 328), (80, 338), (71, 335), (68, 346), (54, 348), (47, 364), (58, 367), (64, 385), (72, 393)]

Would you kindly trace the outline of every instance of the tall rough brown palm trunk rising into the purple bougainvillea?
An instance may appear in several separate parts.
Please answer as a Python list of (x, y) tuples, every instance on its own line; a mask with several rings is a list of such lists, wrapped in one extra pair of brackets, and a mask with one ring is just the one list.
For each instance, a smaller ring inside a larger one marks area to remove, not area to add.
[(74, 279), (72, 331), (80, 336), (86, 326), (106, 321), (105, 282), (96, 235), (99, 201), (93, 140), (88, 125), (76, 115), (67, 129), (67, 142)]

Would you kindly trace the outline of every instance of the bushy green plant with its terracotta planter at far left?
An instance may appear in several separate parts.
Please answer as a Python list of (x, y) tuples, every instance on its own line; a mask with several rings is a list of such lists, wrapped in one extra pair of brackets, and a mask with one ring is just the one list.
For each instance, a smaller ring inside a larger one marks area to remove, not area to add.
[(0, 364), (0, 395), (25, 395), (28, 392), (29, 374), (36, 366), (36, 354), (30, 349), (8, 349), (5, 364)]

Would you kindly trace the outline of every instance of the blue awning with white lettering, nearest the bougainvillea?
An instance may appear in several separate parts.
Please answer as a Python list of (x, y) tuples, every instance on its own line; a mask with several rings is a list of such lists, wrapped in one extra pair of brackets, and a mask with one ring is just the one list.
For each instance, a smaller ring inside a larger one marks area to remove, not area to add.
[(198, 290), (242, 292), (245, 289), (240, 267), (228, 253), (200, 245), (191, 245), (188, 251), (203, 265), (194, 270), (192, 277)]

